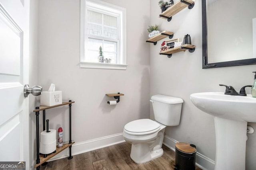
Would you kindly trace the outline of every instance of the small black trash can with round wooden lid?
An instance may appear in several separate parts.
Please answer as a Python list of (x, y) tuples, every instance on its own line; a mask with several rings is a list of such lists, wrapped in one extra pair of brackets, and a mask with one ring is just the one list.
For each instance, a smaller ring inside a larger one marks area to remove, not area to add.
[(196, 146), (188, 143), (175, 144), (175, 170), (196, 169)]

